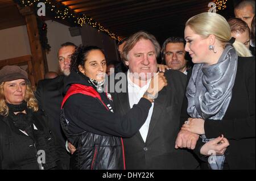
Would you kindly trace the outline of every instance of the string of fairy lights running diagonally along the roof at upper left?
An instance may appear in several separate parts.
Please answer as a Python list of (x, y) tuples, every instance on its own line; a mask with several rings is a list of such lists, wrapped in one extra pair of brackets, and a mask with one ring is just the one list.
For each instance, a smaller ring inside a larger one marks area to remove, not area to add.
[(55, 19), (72, 20), (72, 22), (75, 23), (76, 26), (80, 27), (82, 27), (84, 24), (88, 24), (89, 26), (96, 28), (98, 31), (107, 33), (114, 40), (121, 40), (121, 37), (115, 35), (115, 33), (113, 32), (110, 32), (108, 29), (104, 28), (100, 23), (96, 22), (92, 18), (84, 14), (76, 14), (64, 5), (57, 8), (55, 5), (52, 5), (51, 0), (21, 0), (19, 1), (19, 4), (22, 6), (36, 6), (39, 2), (43, 2), (46, 5), (46, 8), (49, 9), (52, 12), (52, 14), (55, 15)]

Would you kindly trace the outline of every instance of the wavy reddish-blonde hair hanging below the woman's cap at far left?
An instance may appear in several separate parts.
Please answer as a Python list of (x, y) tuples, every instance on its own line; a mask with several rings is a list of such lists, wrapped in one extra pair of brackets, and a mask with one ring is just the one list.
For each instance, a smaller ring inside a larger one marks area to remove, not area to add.
[[(0, 115), (6, 117), (9, 114), (9, 108), (6, 104), (5, 95), (3, 94), (4, 84), (5, 82), (2, 82), (0, 84)], [(29, 83), (26, 83), (24, 100), (27, 102), (28, 108), (31, 108), (34, 112), (38, 111), (38, 101), (36, 100), (35, 95)]]

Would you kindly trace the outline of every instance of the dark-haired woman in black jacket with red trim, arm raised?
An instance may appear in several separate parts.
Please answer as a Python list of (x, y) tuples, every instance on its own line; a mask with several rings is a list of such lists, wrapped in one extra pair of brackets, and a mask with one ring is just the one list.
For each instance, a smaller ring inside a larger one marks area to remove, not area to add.
[(111, 95), (104, 89), (105, 75), (106, 58), (100, 48), (76, 49), (61, 111), (63, 130), (76, 148), (71, 169), (125, 169), (121, 137), (138, 132), (155, 94), (167, 85), (163, 73), (156, 75), (152, 79), (158, 86), (151, 83), (139, 103), (121, 116), (114, 113)]

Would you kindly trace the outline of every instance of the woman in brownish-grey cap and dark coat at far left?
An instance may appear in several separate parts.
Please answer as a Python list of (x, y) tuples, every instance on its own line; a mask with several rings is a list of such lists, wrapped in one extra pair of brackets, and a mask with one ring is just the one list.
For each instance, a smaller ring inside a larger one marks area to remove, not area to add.
[(53, 169), (54, 141), (38, 110), (27, 72), (7, 65), (0, 70), (0, 169)]

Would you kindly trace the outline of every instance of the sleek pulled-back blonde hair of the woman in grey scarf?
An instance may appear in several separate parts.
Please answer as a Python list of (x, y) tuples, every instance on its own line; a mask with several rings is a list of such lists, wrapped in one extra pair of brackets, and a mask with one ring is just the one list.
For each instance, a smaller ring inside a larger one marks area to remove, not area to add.
[[(203, 12), (189, 18), (185, 26), (189, 26), (197, 35), (208, 37), (214, 35), (225, 47), (231, 39), (229, 23), (226, 19), (216, 13)], [(242, 43), (235, 41), (233, 43), (238, 56), (251, 57), (251, 52)]]

